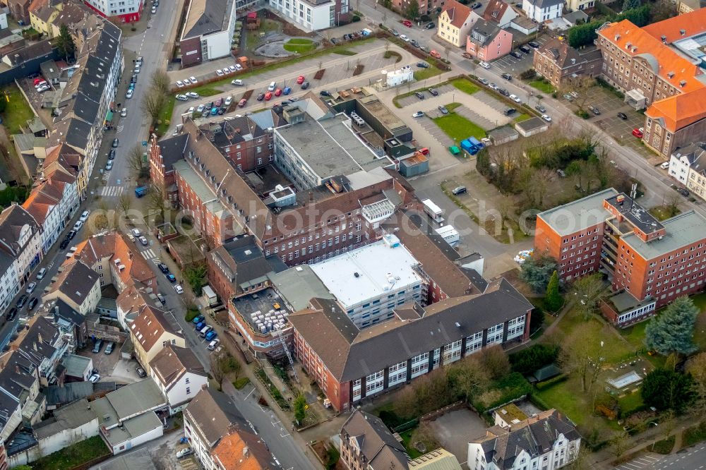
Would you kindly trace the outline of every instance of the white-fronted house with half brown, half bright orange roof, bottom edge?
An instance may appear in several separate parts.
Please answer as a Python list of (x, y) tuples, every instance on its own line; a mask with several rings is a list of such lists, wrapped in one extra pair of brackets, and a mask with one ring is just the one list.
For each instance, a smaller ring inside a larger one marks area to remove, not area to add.
[(207, 469), (275, 469), (264, 442), (226, 394), (204, 387), (184, 409), (184, 435)]

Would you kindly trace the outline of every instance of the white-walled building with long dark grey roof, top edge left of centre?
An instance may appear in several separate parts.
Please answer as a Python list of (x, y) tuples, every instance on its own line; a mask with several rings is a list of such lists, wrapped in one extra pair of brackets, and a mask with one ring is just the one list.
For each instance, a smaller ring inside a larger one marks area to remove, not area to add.
[(229, 55), (235, 30), (235, 0), (193, 0), (188, 5), (179, 41), (181, 65)]

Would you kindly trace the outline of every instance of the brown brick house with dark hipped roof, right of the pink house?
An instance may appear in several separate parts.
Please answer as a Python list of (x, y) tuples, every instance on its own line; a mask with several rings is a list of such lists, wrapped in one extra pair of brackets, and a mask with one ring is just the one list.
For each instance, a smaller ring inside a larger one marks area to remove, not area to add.
[(551, 85), (562, 88), (577, 76), (599, 76), (603, 58), (599, 49), (580, 53), (570, 47), (568, 42), (553, 38), (535, 49), (532, 65)]

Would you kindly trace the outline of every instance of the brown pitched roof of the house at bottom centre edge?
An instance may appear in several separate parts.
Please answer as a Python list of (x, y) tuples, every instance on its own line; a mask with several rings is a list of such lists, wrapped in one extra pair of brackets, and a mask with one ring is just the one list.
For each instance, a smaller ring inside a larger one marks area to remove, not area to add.
[(359, 409), (353, 411), (341, 428), (341, 439), (353, 439), (373, 469), (407, 469), (407, 452), (385, 423)]

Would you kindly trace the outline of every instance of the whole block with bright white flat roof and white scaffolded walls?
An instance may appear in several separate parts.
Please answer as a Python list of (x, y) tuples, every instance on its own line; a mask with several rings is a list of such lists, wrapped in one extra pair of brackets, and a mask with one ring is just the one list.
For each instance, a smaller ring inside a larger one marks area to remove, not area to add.
[(426, 284), (417, 264), (397, 236), (385, 234), (382, 241), (310, 266), (347, 317), (363, 329), (392, 318), (405, 303), (426, 305)]

